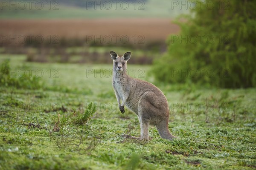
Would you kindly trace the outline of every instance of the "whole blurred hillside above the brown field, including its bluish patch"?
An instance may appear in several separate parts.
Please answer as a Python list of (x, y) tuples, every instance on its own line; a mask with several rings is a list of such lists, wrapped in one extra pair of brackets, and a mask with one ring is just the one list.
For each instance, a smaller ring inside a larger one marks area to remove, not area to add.
[(187, 10), (172, 8), (172, 0), (59, 0), (1, 1), (0, 19), (70, 19), (159, 17), (174, 18)]

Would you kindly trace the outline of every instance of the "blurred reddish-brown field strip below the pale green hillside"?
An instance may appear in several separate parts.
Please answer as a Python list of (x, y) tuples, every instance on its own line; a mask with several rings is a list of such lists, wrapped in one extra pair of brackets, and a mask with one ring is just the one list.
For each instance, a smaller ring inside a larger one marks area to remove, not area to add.
[[(169, 34), (177, 34), (179, 27), (170, 19), (94, 19), (94, 20), (0, 20), (1, 35), (58, 35), (60, 38), (86, 38), (87, 35), (143, 35), (147, 41), (165, 42)], [(114, 37), (113, 37), (114, 38)], [(134, 40), (134, 39), (132, 39)]]

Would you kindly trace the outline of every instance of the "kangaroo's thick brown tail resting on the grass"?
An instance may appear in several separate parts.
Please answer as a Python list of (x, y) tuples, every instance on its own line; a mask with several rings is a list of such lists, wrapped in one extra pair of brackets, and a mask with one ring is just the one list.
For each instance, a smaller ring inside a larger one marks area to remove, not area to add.
[(173, 136), (168, 129), (168, 119), (164, 119), (163, 121), (159, 122), (156, 127), (161, 138), (169, 140), (173, 140), (175, 138), (175, 136)]

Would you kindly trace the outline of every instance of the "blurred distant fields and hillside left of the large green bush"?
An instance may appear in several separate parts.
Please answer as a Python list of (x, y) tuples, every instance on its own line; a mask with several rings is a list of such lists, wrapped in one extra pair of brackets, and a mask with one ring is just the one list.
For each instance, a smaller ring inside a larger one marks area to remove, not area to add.
[[(171, 1), (2, 1), (1, 53), (28, 54), (28, 61), (111, 63), (109, 51), (133, 52), (136, 64), (151, 64), (166, 51), (171, 23), (187, 10)], [(121, 54), (120, 54), (121, 55)], [(136, 57), (136, 58), (135, 58)]]

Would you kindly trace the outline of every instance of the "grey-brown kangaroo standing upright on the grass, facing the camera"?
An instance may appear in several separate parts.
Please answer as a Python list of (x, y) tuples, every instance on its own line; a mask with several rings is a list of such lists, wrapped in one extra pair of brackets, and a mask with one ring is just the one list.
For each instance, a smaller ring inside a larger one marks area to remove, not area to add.
[(110, 55), (113, 59), (112, 85), (119, 109), (122, 114), (125, 113), (124, 105), (126, 105), (137, 114), (140, 121), (140, 138), (134, 136), (131, 138), (148, 140), (149, 125), (155, 125), (163, 139), (174, 139), (175, 136), (168, 129), (169, 107), (162, 91), (149, 82), (128, 76), (127, 61), (131, 57), (131, 52), (119, 57), (116, 52), (110, 51)]

